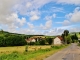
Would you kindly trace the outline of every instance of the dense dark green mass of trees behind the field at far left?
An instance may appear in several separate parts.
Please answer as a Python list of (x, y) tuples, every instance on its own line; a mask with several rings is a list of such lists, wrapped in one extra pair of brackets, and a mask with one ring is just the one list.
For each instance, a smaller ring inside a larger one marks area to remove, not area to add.
[(25, 36), (0, 33), (0, 46), (22, 46), (25, 45)]

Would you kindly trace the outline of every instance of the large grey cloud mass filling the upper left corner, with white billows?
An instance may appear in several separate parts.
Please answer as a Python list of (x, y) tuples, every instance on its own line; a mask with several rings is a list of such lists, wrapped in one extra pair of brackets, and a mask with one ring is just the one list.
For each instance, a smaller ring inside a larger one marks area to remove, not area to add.
[(13, 7), (19, 0), (0, 0), (0, 24), (7, 28), (18, 28), (24, 25), (26, 19), (18, 18), (18, 14), (13, 10)]

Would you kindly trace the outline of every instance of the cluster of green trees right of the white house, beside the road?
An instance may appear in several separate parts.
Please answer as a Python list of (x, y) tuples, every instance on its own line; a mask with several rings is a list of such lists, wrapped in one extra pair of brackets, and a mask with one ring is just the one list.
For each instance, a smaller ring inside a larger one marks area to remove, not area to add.
[(64, 30), (64, 32), (61, 36), (64, 40), (64, 44), (70, 44), (70, 43), (74, 43), (75, 41), (78, 41), (78, 37), (77, 37), (76, 33), (73, 35), (70, 35), (69, 30)]

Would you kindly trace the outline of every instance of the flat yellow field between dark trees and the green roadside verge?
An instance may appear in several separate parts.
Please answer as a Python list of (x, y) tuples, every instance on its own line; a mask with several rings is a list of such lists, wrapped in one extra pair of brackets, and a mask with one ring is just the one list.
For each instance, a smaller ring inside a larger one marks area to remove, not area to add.
[[(28, 46), (28, 51), (35, 51), (39, 49), (50, 48), (48, 46)], [(25, 51), (25, 46), (14, 46), (14, 47), (0, 47), (0, 53), (12, 53), (13, 51), (18, 51), (19, 53), (23, 53)]]

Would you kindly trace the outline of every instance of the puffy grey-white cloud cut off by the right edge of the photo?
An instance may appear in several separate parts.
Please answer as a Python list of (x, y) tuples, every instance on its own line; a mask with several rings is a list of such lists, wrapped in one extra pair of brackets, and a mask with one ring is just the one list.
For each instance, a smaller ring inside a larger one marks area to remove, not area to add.
[(80, 7), (76, 7), (73, 13), (67, 14), (66, 17), (71, 22), (74, 22), (74, 23), (80, 22)]

